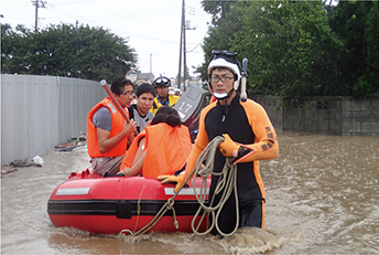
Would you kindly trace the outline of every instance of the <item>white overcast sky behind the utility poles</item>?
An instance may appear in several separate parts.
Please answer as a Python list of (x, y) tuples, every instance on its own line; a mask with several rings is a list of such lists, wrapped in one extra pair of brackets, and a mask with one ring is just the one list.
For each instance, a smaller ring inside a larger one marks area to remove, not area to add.
[[(1, 23), (34, 29), (35, 0), (0, 0)], [(41, 1), (41, 0), (40, 0)], [(45, 0), (39, 8), (39, 28), (71, 23), (102, 26), (118, 36), (129, 38), (139, 56), (142, 73), (175, 77), (178, 72), (182, 0)], [(186, 31), (187, 66), (201, 65), (201, 47), (210, 17), (201, 0), (185, 0), (186, 20), (195, 30)], [(151, 65), (150, 65), (151, 64)], [(182, 67), (183, 71), (183, 67)], [(126, 70), (127, 72), (127, 70)]]

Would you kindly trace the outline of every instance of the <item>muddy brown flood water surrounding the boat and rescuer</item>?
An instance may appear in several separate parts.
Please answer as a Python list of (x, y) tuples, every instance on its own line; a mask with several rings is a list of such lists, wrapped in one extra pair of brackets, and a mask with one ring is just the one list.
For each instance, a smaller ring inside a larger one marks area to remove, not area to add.
[(278, 131), (280, 156), (261, 162), (264, 230), (231, 237), (190, 233), (93, 235), (56, 229), (51, 192), (89, 166), (86, 147), (41, 155), (42, 168), (1, 179), (2, 254), (378, 254), (379, 137)]

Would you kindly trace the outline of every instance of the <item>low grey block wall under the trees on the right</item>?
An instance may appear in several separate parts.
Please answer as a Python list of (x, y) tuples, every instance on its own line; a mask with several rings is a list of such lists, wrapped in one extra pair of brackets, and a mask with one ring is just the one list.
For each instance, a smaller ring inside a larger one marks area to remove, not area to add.
[(253, 96), (281, 130), (334, 136), (379, 136), (379, 99), (350, 97), (303, 98), (290, 100)]

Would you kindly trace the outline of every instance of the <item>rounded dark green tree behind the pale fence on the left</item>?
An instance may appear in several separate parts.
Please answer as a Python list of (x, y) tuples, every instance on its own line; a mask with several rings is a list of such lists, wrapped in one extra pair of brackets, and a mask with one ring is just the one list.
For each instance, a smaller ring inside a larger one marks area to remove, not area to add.
[(137, 63), (128, 41), (102, 28), (59, 24), (34, 32), (3, 25), (1, 35), (3, 73), (112, 81)]

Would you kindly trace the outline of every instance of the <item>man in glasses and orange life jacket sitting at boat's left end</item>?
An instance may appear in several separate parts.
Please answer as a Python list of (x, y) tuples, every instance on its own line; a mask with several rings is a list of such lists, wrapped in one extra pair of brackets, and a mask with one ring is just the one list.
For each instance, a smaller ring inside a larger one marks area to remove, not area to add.
[[(133, 99), (133, 83), (123, 77), (113, 81), (110, 86), (122, 108)], [(117, 110), (110, 97), (104, 98), (87, 115), (87, 150), (95, 173), (116, 174), (127, 151), (128, 140), (132, 142), (137, 124), (128, 124)]]

